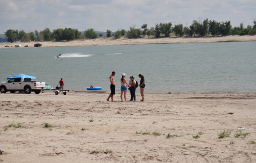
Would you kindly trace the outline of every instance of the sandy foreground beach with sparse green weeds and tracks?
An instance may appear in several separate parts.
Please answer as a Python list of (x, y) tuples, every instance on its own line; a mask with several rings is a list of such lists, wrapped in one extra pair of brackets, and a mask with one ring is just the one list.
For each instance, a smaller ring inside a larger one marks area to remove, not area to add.
[(256, 161), (256, 93), (136, 92), (1, 93), (0, 162)]

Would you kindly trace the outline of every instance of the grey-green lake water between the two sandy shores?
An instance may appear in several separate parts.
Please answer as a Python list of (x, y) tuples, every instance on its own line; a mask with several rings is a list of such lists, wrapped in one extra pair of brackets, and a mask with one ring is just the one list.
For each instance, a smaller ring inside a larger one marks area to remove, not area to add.
[(145, 92), (256, 92), (256, 42), (0, 49), (0, 82), (23, 73), (54, 87), (63, 78), (65, 89), (109, 92), (112, 71), (117, 91), (125, 73), (138, 81), (143, 74)]

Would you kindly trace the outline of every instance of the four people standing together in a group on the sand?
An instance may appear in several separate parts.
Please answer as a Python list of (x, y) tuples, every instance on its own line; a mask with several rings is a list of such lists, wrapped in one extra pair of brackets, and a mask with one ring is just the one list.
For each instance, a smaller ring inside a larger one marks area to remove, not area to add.
[[(111, 101), (113, 101), (113, 96), (115, 94), (115, 82), (114, 82), (114, 76), (116, 75), (116, 72), (112, 72), (111, 76), (110, 76), (110, 90), (111, 93), (107, 98), (107, 101), (109, 101), (109, 99), (111, 98)], [(130, 101), (136, 101), (136, 95), (135, 95), (135, 91), (136, 91), (136, 81), (134, 79), (133, 76), (130, 76), (130, 80), (129, 83), (126, 80), (126, 74), (122, 74), (122, 78), (120, 79), (121, 82), (121, 101), (123, 101), (123, 96), (124, 96), (124, 101), (126, 101), (126, 92), (127, 92), (127, 87), (129, 87), (128, 89), (130, 90)], [(144, 101), (144, 88), (145, 88), (145, 79), (144, 76), (142, 74), (139, 74), (139, 78), (140, 78), (140, 83), (139, 83), (139, 87), (140, 87), (140, 95), (142, 96), (142, 100), (140, 101)]]

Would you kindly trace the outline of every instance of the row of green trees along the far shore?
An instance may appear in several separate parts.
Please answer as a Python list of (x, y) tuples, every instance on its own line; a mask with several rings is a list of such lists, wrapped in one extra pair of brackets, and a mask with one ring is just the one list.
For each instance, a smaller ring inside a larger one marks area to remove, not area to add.
[[(156, 24), (155, 27), (147, 28), (147, 24), (143, 24), (141, 28), (130, 27), (128, 31), (125, 29), (118, 29), (112, 34), (111, 30), (106, 31), (107, 37), (115, 37), (116, 39), (121, 36), (125, 36), (128, 39), (154, 36), (159, 37), (170, 37), (171, 34), (182, 37), (184, 35), (190, 37), (203, 37), (203, 36), (227, 36), (227, 35), (255, 35), (256, 34), (256, 21), (254, 25), (247, 25), (241, 23), (239, 27), (232, 28), (230, 21), (216, 22), (204, 19), (201, 21), (193, 21), (189, 27), (183, 27), (182, 24), (177, 24), (172, 27), (172, 23), (160, 23)], [(17, 29), (9, 29), (5, 32), (8, 42), (15, 41), (70, 41), (79, 39), (95, 39), (98, 37), (94, 29), (85, 30), (84, 34), (78, 31), (78, 29), (71, 28), (58, 28), (52, 32), (49, 28), (43, 31), (26, 33), (24, 30), (18, 31)], [(102, 36), (102, 35), (100, 35)]]

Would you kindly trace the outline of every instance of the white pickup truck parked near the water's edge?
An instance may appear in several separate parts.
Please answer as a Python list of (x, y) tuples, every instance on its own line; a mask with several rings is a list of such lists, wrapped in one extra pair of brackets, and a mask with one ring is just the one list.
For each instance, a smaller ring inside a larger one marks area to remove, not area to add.
[(25, 93), (31, 93), (33, 91), (39, 94), (46, 88), (45, 81), (32, 81), (31, 77), (13, 77), (7, 82), (0, 83), (0, 92), (6, 93), (10, 91), (15, 93), (16, 91), (24, 91)]

